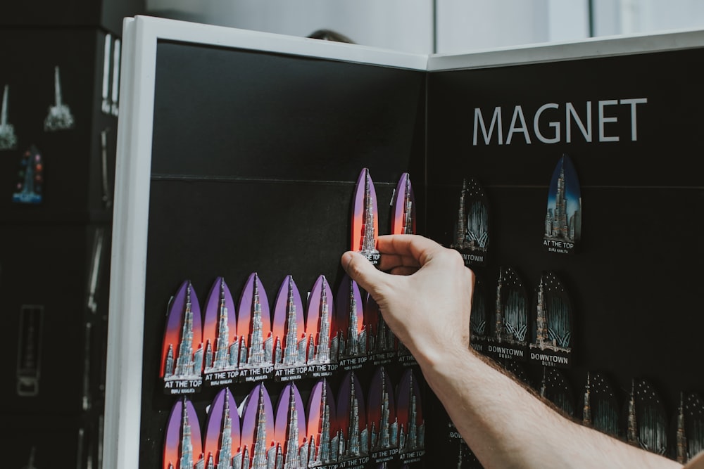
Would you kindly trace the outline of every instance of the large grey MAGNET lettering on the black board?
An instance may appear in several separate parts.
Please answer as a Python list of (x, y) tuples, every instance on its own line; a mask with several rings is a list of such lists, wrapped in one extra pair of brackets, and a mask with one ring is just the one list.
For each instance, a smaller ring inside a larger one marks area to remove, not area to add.
[[(542, 143), (562, 142), (562, 124), (564, 123), (564, 141), (572, 142), (573, 139), (584, 139), (591, 142), (595, 138), (594, 122), (592, 115), (596, 113), (596, 139), (600, 142), (615, 142), (621, 139), (638, 140), (637, 111), (639, 105), (648, 103), (648, 98), (624, 98), (597, 101), (586, 101), (584, 105), (575, 106), (573, 103), (545, 103), (541, 105), (534, 115), (526, 115), (522, 105), (510, 107), (496, 106), (494, 110), (474, 108), (474, 124), (472, 145), (510, 145), (514, 141), (520, 143), (533, 143), (534, 139)], [(596, 111), (593, 108), (596, 107)], [(612, 133), (615, 129), (625, 128), (618, 126), (623, 113), (628, 113), (629, 131), (624, 135)], [(504, 120), (511, 115), (510, 124), (505, 126)], [(528, 120), (527, 120), (528, 117)], [(532, 125), (530, 125), (532, 124)], [(544, 124), (550, 130), (544, 130)], [(574, 135), (573, 128), (577, 128)], [(504, 129), (508, 129), (504, 132)]]

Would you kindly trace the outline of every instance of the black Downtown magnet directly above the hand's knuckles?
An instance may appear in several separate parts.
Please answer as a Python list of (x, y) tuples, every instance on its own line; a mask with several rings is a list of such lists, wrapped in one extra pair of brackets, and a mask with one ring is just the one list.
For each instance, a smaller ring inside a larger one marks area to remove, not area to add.
[(489, 248), (489, 199), (475, 179), (463, 179), (458, 203), (455, 238), (450, 245), (465, 260), (465, 265), (486, 265)]

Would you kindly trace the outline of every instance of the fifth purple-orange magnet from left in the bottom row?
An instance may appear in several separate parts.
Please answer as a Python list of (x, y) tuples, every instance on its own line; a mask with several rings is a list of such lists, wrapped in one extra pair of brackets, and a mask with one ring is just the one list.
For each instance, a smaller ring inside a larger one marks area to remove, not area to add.
[(308, 398), (308, 468), (337, 468), (340, 435), (337, 406), (325, 378), (318, 380)]

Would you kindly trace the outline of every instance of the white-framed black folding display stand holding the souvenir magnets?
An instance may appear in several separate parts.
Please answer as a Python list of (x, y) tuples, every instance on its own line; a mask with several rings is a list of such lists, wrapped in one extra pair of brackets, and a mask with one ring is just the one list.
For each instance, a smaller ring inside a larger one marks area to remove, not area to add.
[[(703, 258), (703, 190), (679, 166), (703, 149), (693, 104), (704, 102), (693, 73), (703, 32), (430, 57), (146, 17), (126, 20), (123, 37), (106, 467), (163, 464), (177, 398), (160, 381), (161, 341), (179, 285), (191, 281), (201, 305), (215, 278), (237, 297), (253, 272), (270, 302), (288, 275), (302, 298), (321, 274), (337, 292), (363, 168), (379, 233), (389, 233), (389, 203), (408, 172), (417, 232), (445, 245), (463, 178), (484, 186), (493, 238), (475, 271), (487, 303), (501, 266), (524, 276), (529, 304), (541, 272), (555, 271), (575, 305), (574, 383), (605, 370), (623, 388), (634, 375), (655, 376), (673, 402), (680, 390), (704, 389), (683, 359), (702, 355), (703, 324), (689, 311), (704, 278), (688, 261)], [(572, 255), (543, 247), (563, 154), (584, 202)], [(677, 241), (665, 241), (674, 227)], [(407, 383), (413, 364), (396, 365), (391, 383)], [(363, 388), (382, 379), (373, 368), (355, 372)], [(273, 396), (289, 389), (265, 385)], [(313, 381), (297, 385), (306, 401)], [(230, 388), (237, 404), (252, 389)], [(215, 391), (189, 396), (200, 418)], [(389, 467), (446, 467), (462, 454), (441, 406), (423, 397), (425, 455)]]

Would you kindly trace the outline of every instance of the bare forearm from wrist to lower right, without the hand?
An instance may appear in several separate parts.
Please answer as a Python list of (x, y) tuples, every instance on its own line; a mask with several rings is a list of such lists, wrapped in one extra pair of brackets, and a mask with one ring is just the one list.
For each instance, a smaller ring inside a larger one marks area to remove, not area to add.
[(417, 359), (486, 469), (681, 468), (564, 418), (472, 349), (419, 354)]

